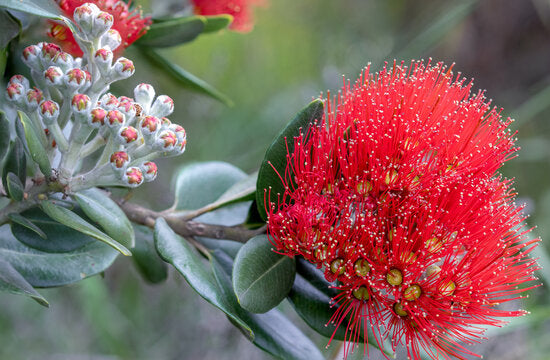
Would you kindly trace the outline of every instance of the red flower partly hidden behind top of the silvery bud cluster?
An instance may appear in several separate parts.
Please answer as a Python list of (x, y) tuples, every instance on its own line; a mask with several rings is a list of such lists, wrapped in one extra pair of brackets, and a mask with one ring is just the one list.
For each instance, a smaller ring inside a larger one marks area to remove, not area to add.
[[(113, 16), (112, 29), (118, 31), (122, 43), (115, 53), (120, 54), (122, 50), (130, 46), (147, 32), (151, 25), (151, 17), (142, 17), (139, 10), (130, 10), (129, 4), (119, 0), (58, 0), (59, 7), (70, 19), (73, 19), (74, 10), (86, 3), (95, 4), (100, 10)], [(65, 25), (51, 21), (48, 35), (57, 40), (63, 49), (74, 55), (82, 56), (82, 50), (78, 46), (72, 32)]]

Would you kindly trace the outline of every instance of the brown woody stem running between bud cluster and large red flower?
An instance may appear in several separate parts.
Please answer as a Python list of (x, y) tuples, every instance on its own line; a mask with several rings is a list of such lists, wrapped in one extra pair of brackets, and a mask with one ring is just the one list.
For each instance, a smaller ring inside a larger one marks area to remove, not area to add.
[(159, 213), (134, 203), (123, 202), (121, 200), (118, 200), (117, 203), (131, 221), (148, 227), (154, 227), (155, 220), (163, 217), (172, 230), (183, 237), (201, 236), (213, 239), (235, 240), (244, 243), (251, 237), (265, 232), (265, 227), (250, 230), (243, 226), (204, 224), (183, 220), (181, 217), (171, 215), (170, 213)]

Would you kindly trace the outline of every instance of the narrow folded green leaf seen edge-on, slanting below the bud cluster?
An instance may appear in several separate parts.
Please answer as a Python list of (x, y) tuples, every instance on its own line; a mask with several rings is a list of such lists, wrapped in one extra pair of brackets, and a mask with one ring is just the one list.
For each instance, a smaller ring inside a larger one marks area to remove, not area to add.
[(49, 200), (42, 201), (40, 203), (40, 207), (49, 217), (60, 222), (61, 224), (86, 235), (89, 235), (97, 240), (103, 241), (104, 243), (112, 246), (114, 249), (120, 251), (123, 255), (132, 255), (132, 253), (130, 253), (130, 251), (126, 247), (113, 240), (107, 234), (98, 230), (96, 227), (88, 223), (86, 220), (84, 220), (71, 210), (56, 205)]

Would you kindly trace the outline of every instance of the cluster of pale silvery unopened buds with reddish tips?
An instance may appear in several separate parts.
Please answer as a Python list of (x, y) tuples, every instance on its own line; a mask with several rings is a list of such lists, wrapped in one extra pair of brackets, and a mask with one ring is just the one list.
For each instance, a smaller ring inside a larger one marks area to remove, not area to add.
[(36, 87), (15, 75), (6, 96), (44, 130), (45, 151), (68, 191), (152, 181), (157, 166), (151, 160), (185, 150), (185, 130), (167, 118), (174, 102), (155, 97), (149, 84), (138, 85), (134, 98), (109, 93), (111, 83), (135, 72), (131, 60), (113, 55), (122, 42), (112, 29), (113, 16), (86, 3), (76, 8), (74, 21), (84, 56), (73, 57), (50, 43), (25, 48), (23, 61)]

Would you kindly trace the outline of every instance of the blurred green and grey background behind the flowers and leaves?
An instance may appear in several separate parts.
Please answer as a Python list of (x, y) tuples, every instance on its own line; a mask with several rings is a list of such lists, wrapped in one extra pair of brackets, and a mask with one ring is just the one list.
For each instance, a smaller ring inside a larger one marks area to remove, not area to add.
[[(136, 3), (156, 16), (181, 7), (176, 1)], [(137, 191), (141, 203), (170, 206), (172, 174), (192, 161), (224, 160), (247, 172), (256, 170), (271, 139), (300, 108), (320, 92), (336, 92), (343, 75), (354, 80), (369, 62), (377, 70), (393, 59), (433, 58), (455, 62), (456, 71), (475, 78), (476, 88), (486, 89), (505, 116), (517, 119), (513, 129), (519, 131), (522, 150), (503, 172), (515, 178), (518, 203), (526, 203), (532, 215), (529, 225), (538, 225), (534, 236), (550, 238), (548, 0), (271, 0), (268, 7), (257, 8), (256, 27), (249, 34), (204, 35), (162, 53), (235, 105), (182, 89), (135, 50), (127, 50), (137, 71), (117, 88), (125, 92), (118, 95), (131, 94), (138, 82), (153, 84), (157, 93), (174, 98), (171, 119), (188, 134), (184, 156), (159, 162), (158, 180)], [(542, 265), (546, 248), (536, 254)], [(550, 264), (541, 273), (550, 280), (545, 272)], [(148, 285), (128, 259), (117, 260), (104, 278), (41, 293), (50, 309), (0, 295), (0, 359), (270, 358), (183, 278), (171, 274), (167, 283)], [(547, 287), (532, 291), (524, 303), (533, 315), (493, 331), (474, 350), (486, 359), (548, 359)], [(312, 336), (324, 348), (327, 340)], [(378, 358), (375, 350), (371, 358)]]

